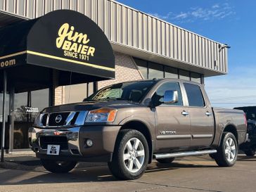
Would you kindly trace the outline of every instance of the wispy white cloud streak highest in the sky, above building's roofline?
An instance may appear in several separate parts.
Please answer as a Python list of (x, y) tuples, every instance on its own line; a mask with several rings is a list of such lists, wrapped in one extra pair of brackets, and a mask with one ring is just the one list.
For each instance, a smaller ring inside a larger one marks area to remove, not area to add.
[(169, 20), (174, 23), (188, 23), (194, 22), (196, 20), (222, 20), (224, 18), (228, 18), (231, 15), (235, 15), (235, 11), (233, 11), (233, 7), (228, 3), (224, 4), (214, 4), (208, 8), (203, 7), (193, 7), (189, 8), (186, 12), (173, 13), (169, 12), (166, 15), (160, 15), (159, 13), (150, 13), (157, 18), (162, 20)]

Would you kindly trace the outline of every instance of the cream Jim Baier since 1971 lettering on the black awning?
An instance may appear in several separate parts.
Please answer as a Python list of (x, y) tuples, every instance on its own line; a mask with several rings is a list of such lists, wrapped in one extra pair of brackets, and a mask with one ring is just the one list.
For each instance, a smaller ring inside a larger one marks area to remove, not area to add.
[(95, 48), (87, 45), (90, 41), (87, 34), (74, 31), (74, 26), (64, 23), (58, 30), (57, 48), (64, 50), (64, 56), (89, 60), (90, 56), (94, 56)]

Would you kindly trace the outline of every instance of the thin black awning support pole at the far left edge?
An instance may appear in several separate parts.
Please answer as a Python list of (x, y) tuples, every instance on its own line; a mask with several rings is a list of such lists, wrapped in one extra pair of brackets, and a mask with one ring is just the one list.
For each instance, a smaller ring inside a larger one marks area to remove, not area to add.
[(1, 162), (4, 162), (4, 139), (6, 135), (6, 86), (7, 77), (6, 70), (4, 70), (4, 93), (3, 93), (3, 120), (2, 120), (2, 132), (1, 132)]

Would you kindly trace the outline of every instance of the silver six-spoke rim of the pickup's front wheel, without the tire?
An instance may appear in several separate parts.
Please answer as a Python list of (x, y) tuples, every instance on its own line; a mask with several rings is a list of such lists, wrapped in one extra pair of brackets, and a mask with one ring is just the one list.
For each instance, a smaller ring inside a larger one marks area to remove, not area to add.
[(137, 139), (132, 138), (127, 141), (123, 151), (124, 166), (129, 172), (138, 172), (143, 166), (145, 160), (145, 150), (143, 143)]

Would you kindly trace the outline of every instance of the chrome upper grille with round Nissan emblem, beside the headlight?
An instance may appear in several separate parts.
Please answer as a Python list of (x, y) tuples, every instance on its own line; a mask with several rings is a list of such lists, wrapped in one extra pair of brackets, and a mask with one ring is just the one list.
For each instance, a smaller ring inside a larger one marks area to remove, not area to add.
[(84, 124), (88, 111), (41, 113), (39, 127), (73, 127)]

